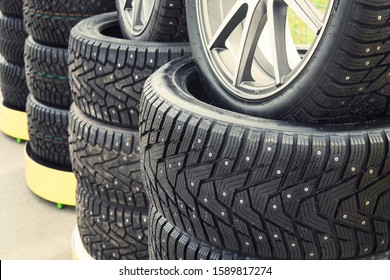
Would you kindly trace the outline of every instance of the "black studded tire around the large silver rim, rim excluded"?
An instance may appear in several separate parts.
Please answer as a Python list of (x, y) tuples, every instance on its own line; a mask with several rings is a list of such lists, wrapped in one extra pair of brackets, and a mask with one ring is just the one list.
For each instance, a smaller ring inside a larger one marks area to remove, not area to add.
[(336, 1), (305, 69), (277, 95), (257, 102), (237, 97), (216, 78), (201, 43), (196, 3), (186, 0), (188, 33), (201, 80), (217, 106), (317, 124), (361, 123), (389, 116), (389, 1)]

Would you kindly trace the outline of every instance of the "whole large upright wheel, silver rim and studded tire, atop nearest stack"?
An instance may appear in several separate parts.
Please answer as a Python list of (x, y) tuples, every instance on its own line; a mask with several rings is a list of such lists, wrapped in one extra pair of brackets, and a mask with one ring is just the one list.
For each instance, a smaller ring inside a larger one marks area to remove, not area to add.
[[(217, 106), (320, 124), (389, 115), (389, 2), (329, 0), (323, 11), (312, 2), (186, 0), (193, 56)], [(289, 10), (313, 30), (303, 50)]]

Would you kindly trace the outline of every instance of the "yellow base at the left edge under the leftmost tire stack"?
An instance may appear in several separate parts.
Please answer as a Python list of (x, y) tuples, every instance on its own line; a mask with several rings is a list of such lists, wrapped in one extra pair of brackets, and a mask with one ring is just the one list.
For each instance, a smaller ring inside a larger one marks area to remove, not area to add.
[(13, 138), (28, 140), (27, 113), (0, 105), (0, 130)]

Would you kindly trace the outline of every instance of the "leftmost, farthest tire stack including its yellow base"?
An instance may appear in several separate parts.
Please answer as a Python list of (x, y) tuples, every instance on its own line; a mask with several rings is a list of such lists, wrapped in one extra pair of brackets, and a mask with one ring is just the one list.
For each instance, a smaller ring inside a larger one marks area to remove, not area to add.
[(28, 140), (26, 100), (28, 89), (24, 73), (23, 1), (0, 0), (0, 131)]

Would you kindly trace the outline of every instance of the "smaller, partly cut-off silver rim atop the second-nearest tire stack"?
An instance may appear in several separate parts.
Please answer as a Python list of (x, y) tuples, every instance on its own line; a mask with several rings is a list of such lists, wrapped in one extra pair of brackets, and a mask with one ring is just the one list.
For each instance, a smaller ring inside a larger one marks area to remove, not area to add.
[(142, 34), (148, 25), (156, 0), (119, 0), (126, 29), (133, 36)]

